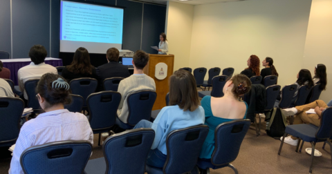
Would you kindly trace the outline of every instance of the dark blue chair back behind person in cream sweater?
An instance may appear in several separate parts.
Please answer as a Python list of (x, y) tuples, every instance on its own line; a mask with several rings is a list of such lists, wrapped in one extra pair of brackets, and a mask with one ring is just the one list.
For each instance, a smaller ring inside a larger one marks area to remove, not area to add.
[(127, 97), (129, 110), (127, 123), (130, 126), (135, 126), (142, 119), (150, 120), (156, 98), (157, 93), (153, 90), (141, 90), (129, 94)]

